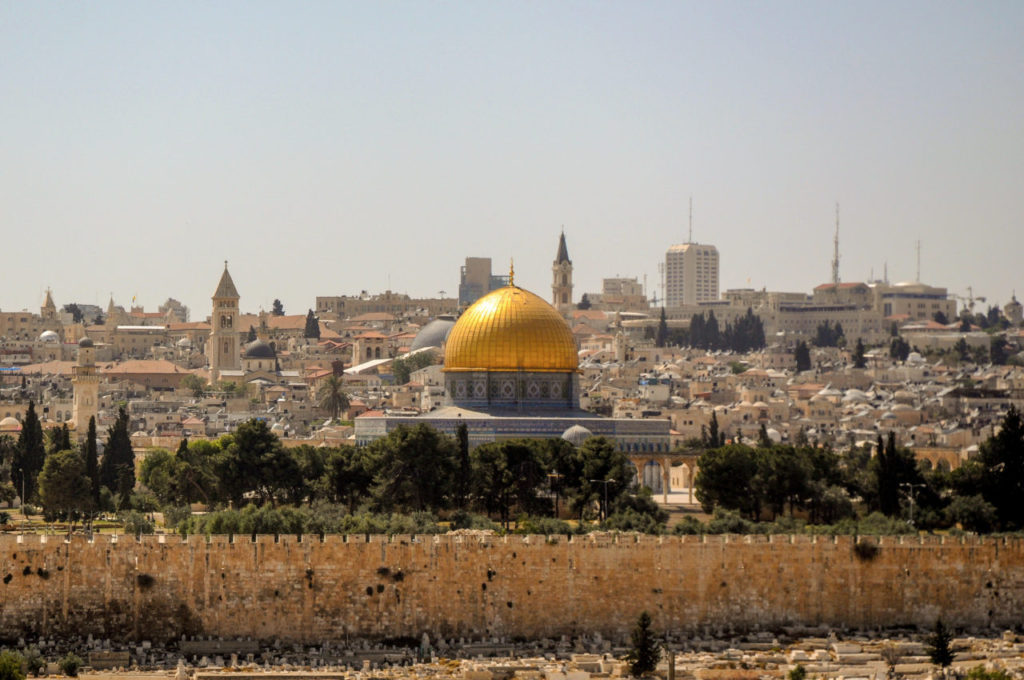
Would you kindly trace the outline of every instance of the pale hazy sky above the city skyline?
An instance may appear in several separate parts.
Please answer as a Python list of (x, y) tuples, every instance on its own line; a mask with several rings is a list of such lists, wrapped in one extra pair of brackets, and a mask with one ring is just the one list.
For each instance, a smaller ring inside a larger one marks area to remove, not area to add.
[(0, 309), (721, 286), (1024, 297), (1024, 3), (0, 0)]

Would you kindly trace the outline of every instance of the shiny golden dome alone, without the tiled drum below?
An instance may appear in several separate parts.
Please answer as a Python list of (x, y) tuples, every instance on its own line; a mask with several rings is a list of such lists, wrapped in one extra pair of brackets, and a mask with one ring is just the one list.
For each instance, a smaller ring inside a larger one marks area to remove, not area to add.
[(506, 286), (474, 302), (449, 334), (445, 371), (574, 372), (575, 340), (555, 308)]

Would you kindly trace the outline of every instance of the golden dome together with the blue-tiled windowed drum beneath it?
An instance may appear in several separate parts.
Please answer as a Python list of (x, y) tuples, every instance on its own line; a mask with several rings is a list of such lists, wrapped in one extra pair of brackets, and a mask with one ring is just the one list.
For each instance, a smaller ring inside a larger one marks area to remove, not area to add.
[(579, 354), (562, 316), (510, 285), (470, 305), (449, 333), (444, 384), (467, 408), (579, 408)]

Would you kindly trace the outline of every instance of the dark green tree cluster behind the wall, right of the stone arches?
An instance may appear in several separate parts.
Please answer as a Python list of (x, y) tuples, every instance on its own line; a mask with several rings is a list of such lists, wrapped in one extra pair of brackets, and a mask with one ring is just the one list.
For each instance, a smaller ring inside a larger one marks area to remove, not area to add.
[(787, 516), (835, 524), (880, 513), (924, 529), (1024, 530), (1024, 422), (1013, 408), (978, 456), (952, 471), (918, 461), (891, 432), (843, 454), (773, 444), (764, 435), (756, 447), (713, 443), (698, 465), (703, 509), (751, 521)]

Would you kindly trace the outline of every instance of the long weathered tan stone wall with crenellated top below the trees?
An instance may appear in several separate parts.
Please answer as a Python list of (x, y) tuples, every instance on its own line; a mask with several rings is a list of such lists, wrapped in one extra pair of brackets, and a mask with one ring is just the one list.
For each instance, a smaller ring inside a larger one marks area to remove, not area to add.
[[(0, 638), (624, 636), (1024, 623), (1024, 541), (0, 537)], [(870, 554), (873, 552), (873, 555)]]

